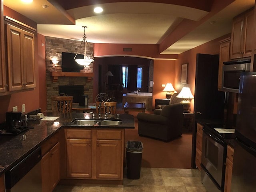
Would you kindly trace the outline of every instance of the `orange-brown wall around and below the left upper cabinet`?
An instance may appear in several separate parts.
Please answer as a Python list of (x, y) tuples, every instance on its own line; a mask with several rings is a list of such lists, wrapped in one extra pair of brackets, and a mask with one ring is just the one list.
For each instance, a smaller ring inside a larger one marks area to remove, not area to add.
[[(4, 15), (22, 21), (25, 24), (30, 24), (36, 28), (36, 23), (32, 20), (4, 7)], [(6, 96), (0, 96), (0, 123), (5, 121), (5, 112), (12, 111), (12, 107), (18, 106), (18, 111), (22, 111), (22, 104), (25, 104), (26, 112), (30, 112), (40, 108), (39, 106), (39, 78), (38, 78), (38, 47), (37, 47), (37, 34), (35, 35), (35, 75), (36, 75), (36, 88), (30, 91), (22, 91), (12, 93)], [(45, 59), (44, 59), (45, 60)], [(43, 72), (45, 75), (45, 71)]]

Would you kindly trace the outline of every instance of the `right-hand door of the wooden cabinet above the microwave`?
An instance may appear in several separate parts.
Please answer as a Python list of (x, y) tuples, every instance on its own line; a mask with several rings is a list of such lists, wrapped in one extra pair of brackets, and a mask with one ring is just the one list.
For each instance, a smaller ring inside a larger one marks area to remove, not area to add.
[(250, 57), (252, 54), (254, 40), (254, 10), (244, 16), (244, 53), (243, 57)]

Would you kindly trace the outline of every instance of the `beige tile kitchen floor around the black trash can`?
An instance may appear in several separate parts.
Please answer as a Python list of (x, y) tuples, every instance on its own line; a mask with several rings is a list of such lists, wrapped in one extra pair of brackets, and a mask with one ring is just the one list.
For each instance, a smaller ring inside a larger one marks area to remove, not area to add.
[(56, 186), (54, 192), (206, 192), (197, 169), (141, 168), (140, 179), (124, 174), (123, 185)]

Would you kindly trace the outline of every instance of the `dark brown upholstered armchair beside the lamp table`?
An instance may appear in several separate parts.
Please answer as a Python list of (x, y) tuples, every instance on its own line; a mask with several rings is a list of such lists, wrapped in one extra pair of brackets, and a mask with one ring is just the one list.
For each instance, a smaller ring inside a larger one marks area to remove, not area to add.
[(138, 134), (168, 142), (182, 135), (184, 114), (181, 103), (170, 104), (154, 114), (138, 113)]

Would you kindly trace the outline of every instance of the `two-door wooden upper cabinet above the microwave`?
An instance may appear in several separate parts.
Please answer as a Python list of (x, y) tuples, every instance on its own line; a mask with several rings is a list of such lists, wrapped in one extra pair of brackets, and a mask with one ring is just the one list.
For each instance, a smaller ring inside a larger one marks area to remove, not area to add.
[(253, 48), (254, 10), (250, 9), (233, 19), (230, 59), (250, 57)]

